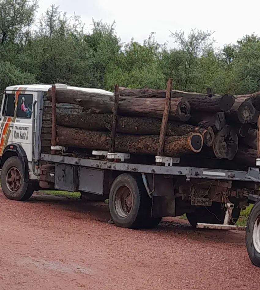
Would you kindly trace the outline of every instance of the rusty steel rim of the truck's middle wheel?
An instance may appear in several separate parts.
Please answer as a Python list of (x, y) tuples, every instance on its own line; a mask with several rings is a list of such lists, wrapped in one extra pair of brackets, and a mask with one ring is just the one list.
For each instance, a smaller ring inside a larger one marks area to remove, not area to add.
[(115, 197), (115, 209), (121, 218), (126, 218), (132, 211), (133, 195), (127, 186), (118, 188)]

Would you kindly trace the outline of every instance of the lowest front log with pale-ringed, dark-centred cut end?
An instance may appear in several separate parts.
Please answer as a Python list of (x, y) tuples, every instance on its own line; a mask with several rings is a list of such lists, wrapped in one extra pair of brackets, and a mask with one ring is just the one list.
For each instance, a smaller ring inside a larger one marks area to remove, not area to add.
[[(88, 131), (76, 128), (57, 126), (57, 144), (66, 147), (79, 147), (91, 150), (108, 151), (111, 143), (109, 132)], [(136, 136), (117, 134), (115, 150), (122, 153), (156, 155), (159, 137), (154, 135)], [(184, 136), (165, 138), (164, 155), (179, 157), (183, 154), (202, 149), (202, 135), (192, 132)]]

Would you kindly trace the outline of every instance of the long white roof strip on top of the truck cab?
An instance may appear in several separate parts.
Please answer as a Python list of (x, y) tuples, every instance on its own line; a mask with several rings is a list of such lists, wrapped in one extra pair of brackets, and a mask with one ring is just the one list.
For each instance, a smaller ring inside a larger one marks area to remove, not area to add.
[[(97, 94), (104, 94), (104, 95), (111, 95), (113, 96), (113, 92), (105, 91), (102, 89), (96, 88), (87, 88), (87, 87), (71, 87), (66, 84), (55, 84), (56, 88), (60, 89), (69, 89), (69, 90), (78, 90), (78, 91), (85, 91), (88, 93), (97, 93)], [(48, 91), (51, 88), (50, 84), (23, 84), (23, 85), (15, 85), (6, 87), (6, 91)]]

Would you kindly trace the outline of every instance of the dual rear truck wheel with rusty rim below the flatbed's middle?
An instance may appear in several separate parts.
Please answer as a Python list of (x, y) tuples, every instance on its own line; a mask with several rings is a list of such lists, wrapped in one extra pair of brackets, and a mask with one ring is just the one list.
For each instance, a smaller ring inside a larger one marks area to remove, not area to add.
[(151, 217), (151, 203), (141, 178), (123, 173), (113, 181), (109, 211), (115, 225), (129, 229), (155, 227), (161, 219)]

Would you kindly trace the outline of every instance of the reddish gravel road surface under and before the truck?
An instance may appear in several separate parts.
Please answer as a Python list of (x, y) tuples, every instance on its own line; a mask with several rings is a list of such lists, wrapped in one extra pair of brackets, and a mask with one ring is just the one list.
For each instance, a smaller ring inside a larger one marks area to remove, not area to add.
[(157, 229), (109, 224), (104, 204), (0, 194), (0, 289), (260, 289), (244, 232), (192, 230), (180, 219)]

